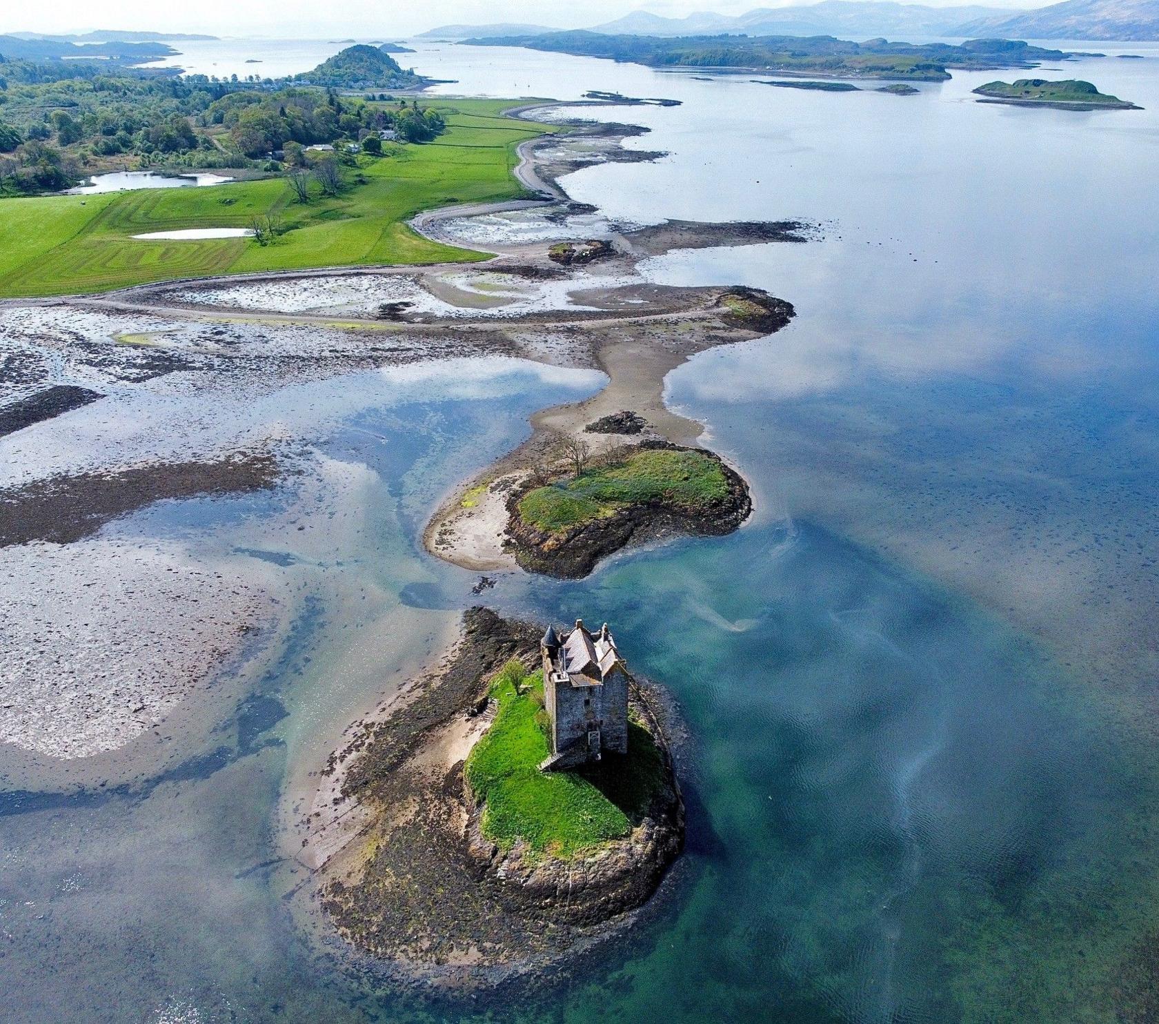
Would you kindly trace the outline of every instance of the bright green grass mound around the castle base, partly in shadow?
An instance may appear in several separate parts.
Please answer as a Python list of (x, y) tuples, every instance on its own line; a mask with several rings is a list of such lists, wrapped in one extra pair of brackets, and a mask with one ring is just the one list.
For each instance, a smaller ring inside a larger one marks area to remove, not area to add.
[(569, 857), (627, 835), (663, 779), (651, 735), (629, 722), (626, 757), (605, 755), (595, 770), (542, 772), (542, 673), (509, 663), (491, 685), (495, 721), (467, 757), (465, 771), (484, 801), (483, 834), (502, 849), (524, 840), (532, 850)]

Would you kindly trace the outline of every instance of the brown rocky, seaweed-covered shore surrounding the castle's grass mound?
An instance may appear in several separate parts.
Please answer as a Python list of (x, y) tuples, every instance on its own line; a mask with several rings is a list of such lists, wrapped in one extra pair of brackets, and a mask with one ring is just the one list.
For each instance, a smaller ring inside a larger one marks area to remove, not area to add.
[[(673, 711), (646, 681), (634, 681), (630, 713), (655, 740), (663, 784), (627, 835), (570, 856), (484, 835), (464, 763), (494, 720), (490, 680), (512, 659), (534, 666), (541, 632), (469, 609), (442, 666), (327, 765), (366, 823), (322, 866), (321, 907), (402, 982), (496, 985), (591, 950), (630, 925), (683, 850)], [(302, 827), (308, 843), (325, 822)]]

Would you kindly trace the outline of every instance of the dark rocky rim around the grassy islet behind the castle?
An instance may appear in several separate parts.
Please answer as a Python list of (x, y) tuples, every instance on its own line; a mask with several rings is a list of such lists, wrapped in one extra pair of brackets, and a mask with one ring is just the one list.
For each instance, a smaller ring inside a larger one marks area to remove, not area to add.
[(666, 441), (644, 441), (640, 448), (695, 450), (720, 463), (728, 481), (728, 493), (720, 501), (684, 508), (664, 502), (629, 504), (607, 516), (581, 523), (569, 530), (541, 530), (519, 515), (519, 502), (537, 485), (513, 488), (508, 498), (506, 546), (519, 567), (545, 576), (578, 580), (586, 576), (600, 559), (629, 544), (648, 543), (668, 536), (715, 537), (731, 533), (752, 511), (749, 485), (715, 452), (681, 449)]

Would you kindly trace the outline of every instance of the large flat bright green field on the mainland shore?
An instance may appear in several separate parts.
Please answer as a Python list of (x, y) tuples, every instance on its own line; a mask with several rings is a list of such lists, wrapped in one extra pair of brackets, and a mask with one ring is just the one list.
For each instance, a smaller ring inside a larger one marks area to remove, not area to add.
[[(153, 281), (261, 270), (483, 259), (428, 241), (406, 221), (450, 203), (517, 198), (516, 147), (553, 131), (505, 118), (503, 100), (430, 100), (447, 131), (427, 145), (386, 145), (359, 157), (336, 197), (294, 201), (283, 179), (212, 188), (0, 199), (0, 297), (96, 292)], [(316, 191), (316, 189), (315, 189)], [(248, 227), (282, 217), (285, 233), (252, 239), (141, 241), (134, 234), (187, 227)]]

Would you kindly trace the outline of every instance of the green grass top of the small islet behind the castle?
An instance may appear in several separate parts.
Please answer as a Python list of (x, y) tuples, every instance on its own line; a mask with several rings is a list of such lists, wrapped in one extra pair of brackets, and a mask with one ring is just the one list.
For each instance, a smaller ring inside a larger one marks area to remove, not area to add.
[(644, 449), (625, 462), (529, 491), (519, 515), (541, 530), (567, 530), (626, 504), (663, 502), (694, 509), (728, 494), (721, 465), (700, 451)]

